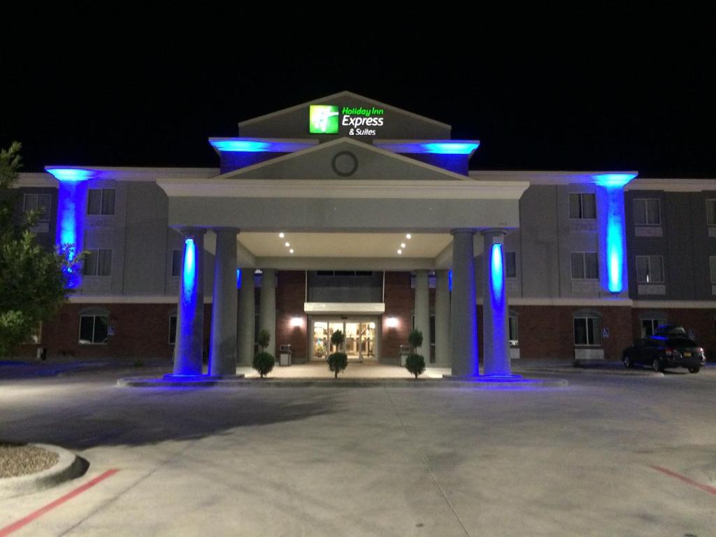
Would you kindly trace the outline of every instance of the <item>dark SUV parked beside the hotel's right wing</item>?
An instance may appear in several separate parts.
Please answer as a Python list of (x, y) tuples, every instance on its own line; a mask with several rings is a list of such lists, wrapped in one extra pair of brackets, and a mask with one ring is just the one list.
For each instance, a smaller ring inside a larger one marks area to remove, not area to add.
[(706, 363), (704, 349), (686, 334), (681, 326), (659, 326), (654, 335), (637, 339), (632, 347), (621, 354), (624, 367), (651, 366), (654, 371), (674, 367), (686, 367), (690, 373), (698, 373)]

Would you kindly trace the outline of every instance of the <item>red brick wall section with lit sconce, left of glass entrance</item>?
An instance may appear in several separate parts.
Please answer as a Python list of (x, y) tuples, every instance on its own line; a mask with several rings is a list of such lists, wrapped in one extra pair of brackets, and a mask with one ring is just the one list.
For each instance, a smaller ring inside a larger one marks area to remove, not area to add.
[[(290, 344), (294, 362), (308, 359), (308, 334), (306, 332), (305, 271), (278, 271), (279, 285), (276, 286), (276, 348)], [(291, 319), (300, 317), (301, 326), (291, 326)]]

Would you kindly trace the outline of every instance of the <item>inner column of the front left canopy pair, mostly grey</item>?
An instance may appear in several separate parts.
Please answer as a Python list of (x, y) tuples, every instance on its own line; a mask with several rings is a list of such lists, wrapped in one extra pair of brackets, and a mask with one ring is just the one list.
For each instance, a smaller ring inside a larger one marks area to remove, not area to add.
[(236, 374), (236, 228), (214, 228), (214, 292), (209, 374)]

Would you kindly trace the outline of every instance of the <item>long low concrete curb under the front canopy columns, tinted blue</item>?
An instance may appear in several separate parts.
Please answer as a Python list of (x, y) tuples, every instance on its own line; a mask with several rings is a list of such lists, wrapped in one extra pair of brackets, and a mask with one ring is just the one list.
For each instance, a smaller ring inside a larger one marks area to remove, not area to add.
[(250, 388), (296, 388), (296, 387), (324, 387), (324, 388), (473, 388), (475, 390), (505, 389), (527, 390), (530, 388), (564, 387), (569, 382), (563, 379), (516, 379), (516, 380), (490, 380), (476, 379), (207, 379), (183, 382), (165, 379), (125, 378), (117, 380), (120, 387), (165, 388), (165, 387), (250, 387)]

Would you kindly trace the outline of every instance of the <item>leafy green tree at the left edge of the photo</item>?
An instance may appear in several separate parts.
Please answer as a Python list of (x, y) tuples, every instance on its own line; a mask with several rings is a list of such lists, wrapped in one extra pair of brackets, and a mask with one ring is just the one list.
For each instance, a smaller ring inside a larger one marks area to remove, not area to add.
[[(0, 356), (29, 340), (67, 299), (66, 248), (46, 251), (30, 228), (39, 213), (18, 215), (19, 142), (0, 150)], [(76, 261), (75, 261), (76, 263)]]

